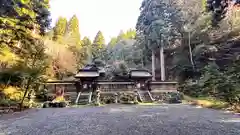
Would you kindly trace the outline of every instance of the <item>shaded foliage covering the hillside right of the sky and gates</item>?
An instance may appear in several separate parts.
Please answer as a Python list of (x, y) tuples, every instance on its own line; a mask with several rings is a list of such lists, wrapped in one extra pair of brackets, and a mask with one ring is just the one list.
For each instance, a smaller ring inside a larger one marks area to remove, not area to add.
[[(135, 60), (136, 63), (150, 69), (151, 49), (157, 50), (161, 38), (166, 73), (178, 79), (180, 91), (193, 97), (210, 96), (239, 104), (239, 66), (235, 61), (239, 56), (237, 13), (231, 10), (228, 19), (212, 28), (214, 16), (202, 12), (205, 5), (205, 0), (143, 0), (132, 49), (141, 55), (132, 57), (142, 57), (142, 62)], [(155, 53), (159, 59), (159, 53)], [(126, 61), (126, 55), (123, 59)]]

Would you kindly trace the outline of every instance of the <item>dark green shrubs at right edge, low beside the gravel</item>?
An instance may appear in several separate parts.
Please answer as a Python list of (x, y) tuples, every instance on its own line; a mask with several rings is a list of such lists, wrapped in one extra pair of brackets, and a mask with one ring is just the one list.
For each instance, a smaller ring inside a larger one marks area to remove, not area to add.
[(216, 64), (210, 64), (205, 67), (198, 83), (185, 83), (180, 90), (194, 97), (210, 96), (230, 104), (239, 103), (239, 66), (236, 63), (225, 71), (220, 71)]

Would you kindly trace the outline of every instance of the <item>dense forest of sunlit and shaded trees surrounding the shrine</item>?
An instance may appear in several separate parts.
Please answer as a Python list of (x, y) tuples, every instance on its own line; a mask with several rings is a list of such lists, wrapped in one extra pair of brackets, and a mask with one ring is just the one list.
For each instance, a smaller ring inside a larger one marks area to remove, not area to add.
[(93, 41), (82, 37), (76, 15), (51, 28), (49, 0), (0, 6), (0, 106), (27, 107), (42, 82), (68, 79), (89, 63), (100, 63), (111, 79), (132, 68), (152, 70), (154, 55), (157, 78), (160, 46), (166, 80), (178, 81), (180, 92), (239, 106), (239, 1), (143, 0), (135, 29), (119, 30), (109, 43), (100, 30)]

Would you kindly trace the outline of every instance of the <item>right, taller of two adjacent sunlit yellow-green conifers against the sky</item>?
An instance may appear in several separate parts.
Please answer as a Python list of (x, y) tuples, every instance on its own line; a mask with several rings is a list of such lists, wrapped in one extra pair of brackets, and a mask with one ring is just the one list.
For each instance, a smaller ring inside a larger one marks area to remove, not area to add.
[(79, 21), (76, 15), (74, 15), (67, 26), (66, 38), (68, 44), (80, 46), (81, 45), (81, 35), (79, 32)]

